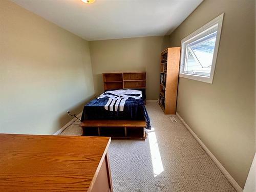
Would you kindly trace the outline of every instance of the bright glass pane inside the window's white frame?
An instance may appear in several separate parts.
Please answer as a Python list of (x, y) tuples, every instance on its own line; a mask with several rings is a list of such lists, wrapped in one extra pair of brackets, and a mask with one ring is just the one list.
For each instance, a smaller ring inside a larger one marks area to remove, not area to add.
[(210, 76), (217, 30), (187, 45), (184, 73)]

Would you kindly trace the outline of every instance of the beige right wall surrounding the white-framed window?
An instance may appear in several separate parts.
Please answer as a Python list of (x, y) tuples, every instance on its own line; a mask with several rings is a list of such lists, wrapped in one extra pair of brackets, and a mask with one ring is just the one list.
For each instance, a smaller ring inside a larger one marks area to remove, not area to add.
[(179, 78), (177, 112), (243, 187), (255, 153), (255, 1), (205, 0), (170, 45), (223, 12), (214, 82)]

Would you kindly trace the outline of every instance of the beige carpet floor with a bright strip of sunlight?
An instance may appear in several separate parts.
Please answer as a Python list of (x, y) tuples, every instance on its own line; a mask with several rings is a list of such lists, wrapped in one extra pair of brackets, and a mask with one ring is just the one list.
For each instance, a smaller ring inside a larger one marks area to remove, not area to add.
[[(147, 102), (146, 109), (152, 130), (145, 141), (111, 141), (115, 192), (236, 191), (178, 117), (173, 123), (155, 101)], [(81, 129), (71, 125), (61, 134), (81, 135)]]

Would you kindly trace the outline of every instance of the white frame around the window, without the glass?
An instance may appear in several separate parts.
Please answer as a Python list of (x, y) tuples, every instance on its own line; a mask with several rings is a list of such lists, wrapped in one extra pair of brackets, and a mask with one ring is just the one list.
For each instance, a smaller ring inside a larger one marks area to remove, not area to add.
[[(203, 81), (203, 82), (207, 82), (207, 83), (212, 83), (212, 81), (214, 79), (216, 59), (217, 59), (217, 54), (218, 54), (218, 49), (219, 49), (219, 44), (220, 44), (223, 16), (224, 16), (224, 13), (222, 13), (221, 15), (219, 15), (218, 17), (216, 17), (215, 19), (211, 20), (209, 23), (207, 23), (206, 25), (201, 27), (200, 29), (196, 30), (195, 32), (191, 33), (190, 35), (188, 35), (187, 37), (185, 37), (181, 40), (181, 59), (180, 59), (180, 74), (179, 74), (180, 77)], [(214, 55), (212, 57), (210, 76), (207, 77), (207, 76), (201, 76), (201, 75), (196, 75), (196, 74), (183, 73), (184, 68), (185, 68), (185, 62), (186, 62), (187, 45), (190, 42), (193, 42), (193, 41), (209, 34), (212, 29), (216, 28), (217, 24), (218, 24), (218, 29), (217, 29)]]

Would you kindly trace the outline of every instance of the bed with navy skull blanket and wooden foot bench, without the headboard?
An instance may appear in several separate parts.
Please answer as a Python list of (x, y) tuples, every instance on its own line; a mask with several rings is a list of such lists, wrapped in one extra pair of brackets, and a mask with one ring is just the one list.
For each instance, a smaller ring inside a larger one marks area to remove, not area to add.
[(151, 125), (144, 100), (141, 90), (104, 92), (83, 108), (83, 135), (145, 139), (144, 127), (150, 130)]

